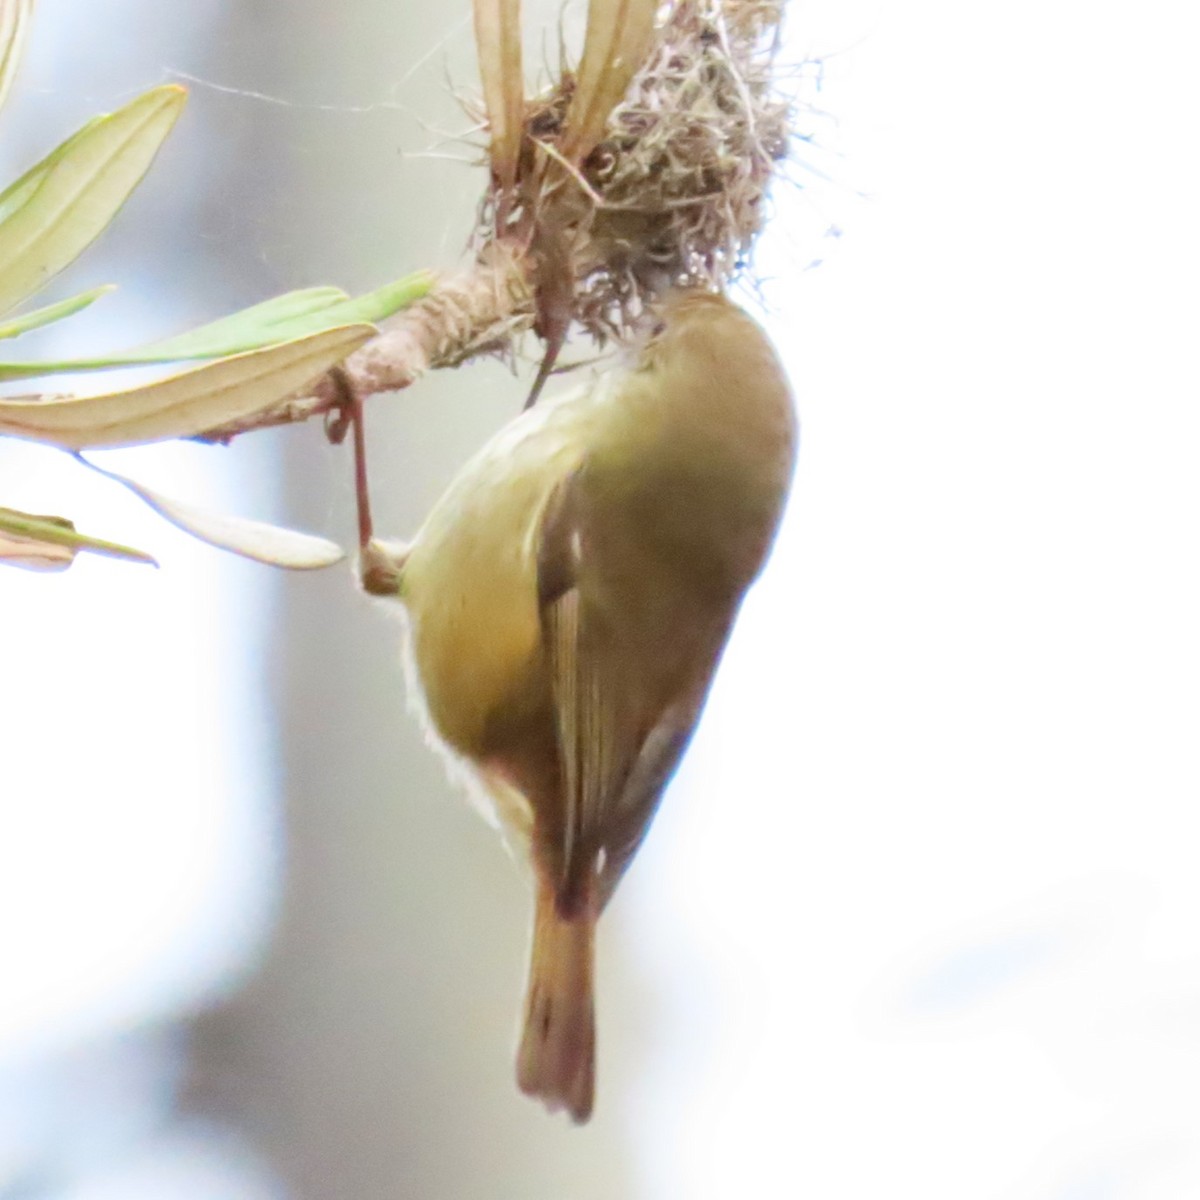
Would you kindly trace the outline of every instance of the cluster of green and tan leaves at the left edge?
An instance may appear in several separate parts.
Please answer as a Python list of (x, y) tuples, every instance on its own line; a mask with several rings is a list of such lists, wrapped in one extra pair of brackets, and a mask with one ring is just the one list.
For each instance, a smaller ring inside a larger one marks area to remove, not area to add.
[[(31, 0), (0, 5), (0, 103), (16, 70)], [(74, 316), (113, 290), (90, 288), (13, 316), (107, 228), (140, 182), (186, 102), (182, 88), (151, 89), (96, 116), (0, 193), (0, 340)], [(44, 392), (0, 400), (0, 436), (47, 443), (78, 457), (89, 449), (197, 437), (278, 404), (376, 335), (378, 322), (433, 283), (418, 272), (361, 296), (307, 288), (254, 305), (150, 346), (88, 359), (0, 361), (0, 380), (198, 362), (137, 386), (90, 396)], [(84, 460), (80, 458), (80, 462)], [(324, 566), (338, 547), (290, 530), (199, 514), (137, 484), (158, 512), (190, 533), (265, 562)], [(79, 533), (60, 516), (0, 508), (0, 564), (70, 566), (79, 551), (152, 562), (149, 554)]]

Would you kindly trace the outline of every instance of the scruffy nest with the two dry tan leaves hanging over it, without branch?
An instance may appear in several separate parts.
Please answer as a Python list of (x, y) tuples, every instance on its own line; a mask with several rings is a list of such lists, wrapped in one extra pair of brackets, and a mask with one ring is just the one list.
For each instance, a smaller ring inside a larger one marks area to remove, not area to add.
[(492, 173), (475, 241), (528, 258), (538, 331), (619, 338), (667, 287), (725, 288), (788, 152), (781, 0), (593, 0), (578, 68), (528, 101), (500, 7), (498, 30), (476, 2)]

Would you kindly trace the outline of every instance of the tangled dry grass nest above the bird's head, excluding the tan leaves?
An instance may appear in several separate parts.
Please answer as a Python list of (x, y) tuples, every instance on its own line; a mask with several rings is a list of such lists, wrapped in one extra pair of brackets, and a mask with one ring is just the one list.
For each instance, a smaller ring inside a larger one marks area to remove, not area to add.
[(526, 104), (516, 186), (504, 196), (493, 176), (479, 253), (516, 241), (535, 281), (553, 259), (571, 318), (600, 342), (622, 338), (668, 287), (725, 288), (749, 264), (790, 150), (782, 7), (677, 0), (660, 11), (646, 61), (577, 164), (558, 152), (575, 89), (564, 70)]

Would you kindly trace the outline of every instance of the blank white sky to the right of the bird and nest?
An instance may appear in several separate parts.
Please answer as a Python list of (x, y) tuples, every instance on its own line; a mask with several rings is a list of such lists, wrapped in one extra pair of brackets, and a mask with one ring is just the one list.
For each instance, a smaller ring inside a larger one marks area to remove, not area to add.
[(848, 188), (760, 256), (796, 491), (614, 906), (646, 1196), (1200, 1195), (1188, 12), (794, 6)]

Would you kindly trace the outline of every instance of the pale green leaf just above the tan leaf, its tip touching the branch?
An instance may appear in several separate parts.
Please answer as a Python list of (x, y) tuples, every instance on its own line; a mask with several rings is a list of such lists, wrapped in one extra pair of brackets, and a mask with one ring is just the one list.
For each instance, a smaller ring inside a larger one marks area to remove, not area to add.
[(432, 286), (433, 276), (418, 271), (353, 299), (338, 288), (288, 292), (178, 337), (121, 354), (48, 362), (0, 362), (0, 380), (244, 354), (342, 325), (376, 324), (419, 300)]

